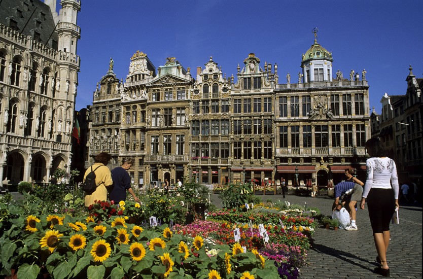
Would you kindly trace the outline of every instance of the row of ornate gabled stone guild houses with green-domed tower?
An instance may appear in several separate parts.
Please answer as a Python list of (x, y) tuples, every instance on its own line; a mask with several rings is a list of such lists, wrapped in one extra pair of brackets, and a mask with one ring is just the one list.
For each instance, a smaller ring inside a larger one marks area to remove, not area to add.
[[(137, 51), (125, 83), (109, 72), (94, 92), (90, 161), (101, 151), (133, 157), (133, 183), (205, 184), (285, 179), (328, 186), (350, 168), (364, 179), (370, 137), (366, 71), (333, 74), (332, 53), (314, 41), (298, 82), (254, 53), (226, 77), (212, 57), (196, 79), (174, 57), (155, 67)], [(333, 75), (336, 75), (334, 78)]]

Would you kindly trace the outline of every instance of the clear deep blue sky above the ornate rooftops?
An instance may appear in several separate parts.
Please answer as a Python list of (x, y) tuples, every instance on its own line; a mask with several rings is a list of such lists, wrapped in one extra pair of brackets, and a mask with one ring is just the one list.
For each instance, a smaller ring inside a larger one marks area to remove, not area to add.
[(227, 76), (254, 52), (278, 64), (279, 82), (289, 72), (296, 80), (301, 54), (318, 43), (332, 52), (333, 73), (365, 68), (370, 106), (381, 113), (380, 99), (405, 94), (409, 64), (423, 78), (423, 1), (139, 1), (82, 0), (78, 25), (81, 72), (76, 109), (92, 104), (97, 82), (114, 59), (119, 79), (128, 74), (130, 57), (147, 53), (158, 68), (174, 56), (191, 67), (209, 56)]

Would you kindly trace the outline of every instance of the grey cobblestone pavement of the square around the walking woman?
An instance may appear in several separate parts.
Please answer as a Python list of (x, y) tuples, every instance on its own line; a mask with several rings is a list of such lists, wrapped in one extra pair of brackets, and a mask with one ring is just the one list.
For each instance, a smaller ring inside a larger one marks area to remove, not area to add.
[[(263, 201), (289, 201), (318, 207), (322, 214), (330, 215), (333, 199), (287, 195), (259, 195)], [(219, 198), (212, 195), (214, 204)], [(219, 206), (220, 207), (220, 206)], [(400, 204), (400, 224), (391, 224), (391, 241), (387, 250), (387, 261), (393, 278), (421, 278), (421, 219), (422, 207)], [(357, 231), (318, 228), (314, 232), (314, 246), (308, 251), (307, 266), (301, 268), (301, 278), (382, 278), (373, 272), (377, 266), (376, 248), (370, 227), (367, 205), (358, 210)]]

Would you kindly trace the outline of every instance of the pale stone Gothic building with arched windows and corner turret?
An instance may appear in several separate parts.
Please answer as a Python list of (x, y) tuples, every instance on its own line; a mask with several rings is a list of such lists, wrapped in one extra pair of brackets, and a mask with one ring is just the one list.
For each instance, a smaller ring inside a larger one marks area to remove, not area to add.
[(0, 1), (0, 185), (69, 171), (80, 0)]

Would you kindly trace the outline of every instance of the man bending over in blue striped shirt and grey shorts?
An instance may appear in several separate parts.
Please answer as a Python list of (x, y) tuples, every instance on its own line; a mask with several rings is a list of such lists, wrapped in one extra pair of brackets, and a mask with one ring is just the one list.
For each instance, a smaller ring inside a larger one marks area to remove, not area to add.
[[(351, 191), (352, 190), (352, 191)], [(335, 185), (334, 188), (334, 196), (335, 201), (332, 205), (332, 210), (338, 205), (338, 204), (346, 204), (345, 208), (349, 213), (349, 217), (351, 219), (351, 223), (345, 228), (345, 230), (348, 231), (356, 231), (357, 224), (356, 224), (356, 204), (357, 201), (361, 200), (361, 196), (363, 194), (363, 187), (361, 185), (354, 183), (354, 182), (347, 182), (343, 181)], [(339, 198), (341, 201), (339, 201)]]

